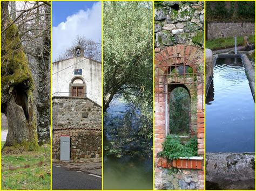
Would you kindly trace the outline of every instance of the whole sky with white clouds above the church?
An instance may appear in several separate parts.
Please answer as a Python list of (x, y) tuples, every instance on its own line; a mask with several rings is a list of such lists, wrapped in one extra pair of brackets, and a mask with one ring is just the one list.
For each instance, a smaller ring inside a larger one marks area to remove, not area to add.
[(52, 1), (52, 61), (57, 61), (76, 36), (102, 40), (101, 2)]

